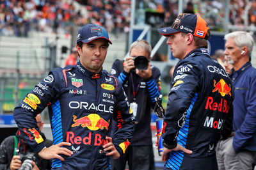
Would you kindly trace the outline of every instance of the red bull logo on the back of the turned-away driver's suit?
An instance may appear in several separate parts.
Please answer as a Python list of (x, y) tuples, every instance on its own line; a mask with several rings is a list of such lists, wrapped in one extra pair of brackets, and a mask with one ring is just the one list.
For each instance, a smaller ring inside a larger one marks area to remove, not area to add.
[(220, 81), (217, 83), (215, 80), (213, 80), (213, 81), (214, 81), (214, 84), (213, 84), (214, 89), (212, 89), (212, 92), (218, 91), (218, 93), (220, 93), (220, 95), (222, 97), (225, 97), (225, 95), (230, 95), (230, 97), (231, 97), (231, 92), (230, 92), (231, 85), (230, 84), (228, 86), (228, 84), (223, 79), (220, 79)]

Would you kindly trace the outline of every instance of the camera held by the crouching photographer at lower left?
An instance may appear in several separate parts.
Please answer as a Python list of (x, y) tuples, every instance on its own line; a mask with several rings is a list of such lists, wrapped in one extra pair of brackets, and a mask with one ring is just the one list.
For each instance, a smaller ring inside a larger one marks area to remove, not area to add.
[(20, 154), (20, 160), (22, 162), (19, 170), (31, 170), (33, 169), (33, 165), (31, 164), (31, 160), (36, 161), (35, 153), (28, 152), (25, 154)]

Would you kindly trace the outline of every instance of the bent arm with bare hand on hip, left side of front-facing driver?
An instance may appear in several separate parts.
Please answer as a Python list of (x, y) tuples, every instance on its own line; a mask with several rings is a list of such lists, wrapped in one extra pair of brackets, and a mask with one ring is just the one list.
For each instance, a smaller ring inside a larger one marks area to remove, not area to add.
[[(51, 104), (51, 102), (54, 102), (54, 100), (59, 97), (60, 89), (62, 88), (60, 82), (61, 79), (59, 78), (58, 72), (52, 70), (47, 77), (40, 81), (35, 88), (22, 99), (13, 112), (22, 138), (40, 155), (40, 157), (45, 159), (60, 158), (60, 156), (56, 155), (59, 153), (70, 155), (67, 149), (63, 150), (63, 148), (60, 148), (63, 145), (68, 145), (68, 143), (60, 143), (46, 148), (44, 139), (39, 134), (35, 120), (35, 116), (39, 112), (42, 112), (47, 105)], [(51, 155), (45, 155), (51, 151)]]

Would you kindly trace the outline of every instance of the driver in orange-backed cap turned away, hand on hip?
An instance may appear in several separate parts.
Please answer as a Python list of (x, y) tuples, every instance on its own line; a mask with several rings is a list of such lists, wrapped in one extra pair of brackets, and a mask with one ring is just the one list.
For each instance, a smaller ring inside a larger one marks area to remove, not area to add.
[(181, 13), (168, 36), (175, 66), (163, 124), (165, 169), (218, 169), (214, 148), (232, 131), (232, 85), (207, 51), (210, 30), (199, 15)]

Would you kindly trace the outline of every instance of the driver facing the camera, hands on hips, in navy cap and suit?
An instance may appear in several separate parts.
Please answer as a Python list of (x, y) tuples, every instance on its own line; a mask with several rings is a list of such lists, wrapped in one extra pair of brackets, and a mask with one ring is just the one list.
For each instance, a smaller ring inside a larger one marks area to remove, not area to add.
[[(79, 62), (52, 69), (14, 109), (22, 137), (40, 157), (52, 159), (52, 169), (108, 169), (109, 157), (120, 157), (130, 144), (134, 118), (127, 96), (121, 82), (102, 70), (109, 43), (103, 27), (81, 27)], [(35, 121), (47, 106), (54, 144), (48, 148)], [(113, 121), (118, 123), (112, 139)]]

